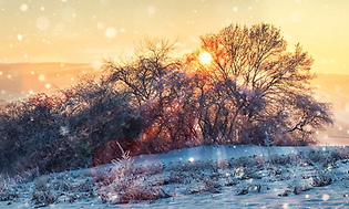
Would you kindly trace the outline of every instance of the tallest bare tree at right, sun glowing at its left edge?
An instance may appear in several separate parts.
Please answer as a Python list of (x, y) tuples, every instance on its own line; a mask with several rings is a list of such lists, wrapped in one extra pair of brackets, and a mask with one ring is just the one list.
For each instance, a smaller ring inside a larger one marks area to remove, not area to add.
[[(209, 62), (201, 61), (204, 52)], [(187, 63), (197, 76), (195, 103), (205, 142), (315, 143), (314, 133), (332, 119), (329, 104), (316, 101), (308, 86), (312, 62), (299, 44), (288, 52), (273, 24), (232, 24), (202, 36)]]

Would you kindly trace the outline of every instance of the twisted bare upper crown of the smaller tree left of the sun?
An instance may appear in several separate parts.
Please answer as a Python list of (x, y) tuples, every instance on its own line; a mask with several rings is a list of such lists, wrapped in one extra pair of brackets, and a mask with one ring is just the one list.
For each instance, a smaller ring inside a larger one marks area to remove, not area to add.
[(163, 76), (179, 69), (179, 60), (171, 55), (174, 49), (175, 42), (166, 39), (145, 39), (133, 56), (104, 59), (103, 70), (110, 73), (107, 82), (125, 91), (133, 104), (141, 106), (161, 91), (157, 84)]

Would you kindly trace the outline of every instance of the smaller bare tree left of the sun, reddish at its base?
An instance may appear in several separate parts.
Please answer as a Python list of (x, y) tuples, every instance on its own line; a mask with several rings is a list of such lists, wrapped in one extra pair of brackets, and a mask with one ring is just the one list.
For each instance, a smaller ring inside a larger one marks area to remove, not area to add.
[(174, 49), (165, 39), (145, 39), (132, 56), (104, 60), (107, 85), (123, 92), (142, 115), (141, 140), (151, 153), (193, 145), (196, 138), (196, 116), (188, 103), (193, 85)]

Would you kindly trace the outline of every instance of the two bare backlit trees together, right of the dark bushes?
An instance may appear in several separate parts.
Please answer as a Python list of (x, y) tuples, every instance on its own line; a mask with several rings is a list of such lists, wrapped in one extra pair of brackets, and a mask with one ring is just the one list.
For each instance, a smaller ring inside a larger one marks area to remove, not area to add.
[(124, 86), (146, 115), (143, 139), (170, 142), (167, 147), (310, 145), (332, 123), (330, 105), (316, 101), (308, 85), (314, 60), (300, 44), (288, 52), (280, 29), (232, 24), (201, 40), (198, 50), (179, 59), (172, 55), (175, 44), (146, 40), (122, 64), (106, 60), (110, 81)]

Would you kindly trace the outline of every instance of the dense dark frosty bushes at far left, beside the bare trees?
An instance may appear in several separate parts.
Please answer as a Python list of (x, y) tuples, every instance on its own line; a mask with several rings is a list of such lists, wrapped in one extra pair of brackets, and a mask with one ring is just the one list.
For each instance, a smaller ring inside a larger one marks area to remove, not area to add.
[(102, 79), (84, 79), (55, 95), (35, 94), (1, 106), (0, 171), (47, 174), (89, 167), (110, 140), (136, 139), (140, 116), (102, 83)]

